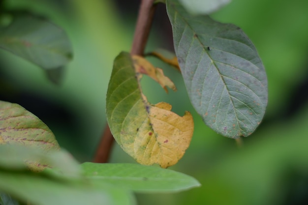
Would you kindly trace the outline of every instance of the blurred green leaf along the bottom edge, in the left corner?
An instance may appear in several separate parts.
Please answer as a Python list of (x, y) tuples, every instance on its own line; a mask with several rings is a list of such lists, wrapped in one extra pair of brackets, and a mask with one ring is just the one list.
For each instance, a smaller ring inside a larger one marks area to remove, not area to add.
[(0, 190), (33, 205), (114, 204), (108, 190), (103, 192), (86, 183), (64, 183), (31, 173), (0, 170)]

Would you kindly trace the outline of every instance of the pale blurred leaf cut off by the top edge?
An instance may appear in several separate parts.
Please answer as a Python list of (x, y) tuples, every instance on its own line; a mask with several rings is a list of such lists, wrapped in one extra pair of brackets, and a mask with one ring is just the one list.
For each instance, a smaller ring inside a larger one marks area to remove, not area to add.
[[(167, 2), (176, 0), (167, 0)], [(179, 0), (185, 9), (193, 15), (210, 14), (231, 0)]]

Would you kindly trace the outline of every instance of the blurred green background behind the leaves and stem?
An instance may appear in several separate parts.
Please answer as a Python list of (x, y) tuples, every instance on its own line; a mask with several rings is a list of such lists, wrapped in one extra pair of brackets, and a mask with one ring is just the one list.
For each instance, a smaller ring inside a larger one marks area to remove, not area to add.
[[(19, 103), (54, 131), (80, 162), (91, 161), (105, 127), (105, 95), (113, 59), (129, 51), (140, 0), (6, 0), (51, 19), (68, 34), (74, 59), (61, 86), (31, 63), (0, 51), (0, 99)], [(233, 0), (213, 18), (241, 27), (257, 48), (269, 82), (266, 116), (238, 147), (196, 115), (180, 73), (153, 59), (176, 84), (169, 94), (151, 79), (143, 89), (152, 103), (166, 101), (194, 116), (190, 147), (171, 169), (202, 186), (178, 194), (137, 194), (139, 205), (308, 204), (308, 0)], [(147, 51), (172, 50), (164, 5), (155, 14)], [(111, 162), (132, 162), (115, 145)]]

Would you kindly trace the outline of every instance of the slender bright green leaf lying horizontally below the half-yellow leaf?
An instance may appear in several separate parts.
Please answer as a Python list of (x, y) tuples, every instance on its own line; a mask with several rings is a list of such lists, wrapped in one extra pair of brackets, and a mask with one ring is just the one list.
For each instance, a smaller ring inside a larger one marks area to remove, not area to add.
[(110, 184), (139, 193), (178, 192), (200, 186), (191, 176), (154, 166), (90, 162), (81, 166), (87, 178), (98, 186)]

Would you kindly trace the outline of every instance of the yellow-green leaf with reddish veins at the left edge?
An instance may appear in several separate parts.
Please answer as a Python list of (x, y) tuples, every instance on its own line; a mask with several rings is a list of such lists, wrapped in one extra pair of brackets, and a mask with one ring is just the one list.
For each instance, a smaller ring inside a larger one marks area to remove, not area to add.
[[(59, 150), (52, 131), (38, 117), (17, 104), (0, 101), (0, 145), (31, 146), (44, 152)], [(31, 169), (44, 169), (46, 164), (30, 163)]]

